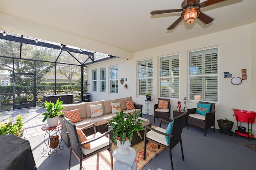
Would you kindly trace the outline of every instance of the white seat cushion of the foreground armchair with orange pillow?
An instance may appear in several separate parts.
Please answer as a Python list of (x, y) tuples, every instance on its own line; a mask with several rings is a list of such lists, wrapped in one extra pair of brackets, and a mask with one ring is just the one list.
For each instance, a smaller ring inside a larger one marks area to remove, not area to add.
[[(87, 139), (90, 140), (90, 139), (93, 139), (93, 138), (98, 137), (100, 135), (101, 135), (101, 133), (97, 132), (93, 135), (88, 136)], [(84, 155), (90, 154), (90, 153), (94, 152), (95, 150), (98, 150), (102, 147), (106, 147), (107, 145), (109, 145), (109, 141), (108, 141), (108, 138), (104, 136), (104, 137), (102, 137), (102, 138), (100, 138), (96, 141), (91, 142), (90, 144), (91, 144), (91, 149), (85, 149), (85, 148), (82, 147), (82, 151), (83, 151)]]

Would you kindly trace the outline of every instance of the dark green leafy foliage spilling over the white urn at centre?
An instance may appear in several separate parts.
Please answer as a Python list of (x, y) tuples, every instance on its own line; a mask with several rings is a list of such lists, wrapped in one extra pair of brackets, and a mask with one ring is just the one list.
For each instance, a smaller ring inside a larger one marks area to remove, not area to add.
[(121, 111), (120, 113), (116, 113), (116, 117), (109, 120), (109, 123), (107, 124), (109, 126), (108, 131), (113, 131), (111, 141), (114, 142), (114, 144), (116, 144), (117, 137), (120, 137), (121, 145), (126, 141), (126, 137), (128, 137), (131, 143), (133, 131), (136, 131), (138, 136), (140, 136), (140, 139), (142, 139), (139, 131), (144, 130), (142, 122), (145, 121), (138, 119), (140, 113), (141, 111), (136, 113), (136, 110), (134, 113), (123, 113), (123, 111)]

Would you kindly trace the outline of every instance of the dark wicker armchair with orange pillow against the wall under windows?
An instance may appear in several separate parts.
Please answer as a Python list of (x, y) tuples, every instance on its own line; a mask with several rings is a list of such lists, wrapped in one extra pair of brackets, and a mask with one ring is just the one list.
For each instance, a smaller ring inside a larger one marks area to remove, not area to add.
[(169, 101), (168, 103), (168, 109), (158, 109), (158, 103), (154, 105), (154, 122), (156, 118), (163, 118), (163, 119), (171, 119), (171, 104), (170, 104), (170, 99), (162, 99), (158, 98), (159, 100), (166, 100)]

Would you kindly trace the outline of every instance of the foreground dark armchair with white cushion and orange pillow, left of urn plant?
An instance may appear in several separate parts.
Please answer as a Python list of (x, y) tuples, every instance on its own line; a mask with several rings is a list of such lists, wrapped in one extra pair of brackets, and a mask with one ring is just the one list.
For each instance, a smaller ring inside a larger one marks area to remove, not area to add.
[[(82, 169), (82, 161), (94, 154), (97, 154), (97, 157), (99, 156), (99, 152), (103, 150), (108, 150), (110, 152), (110, 161), (111, 161), (111, 169), (113, 169), (113, 157), (112, 157), (112, 143), (110, 141), (109, 133), (99, 133), (96, 132), (96, 127), (94, 123), (87, 125), (84, 128), (81, 128), (81, 130), (86, 129), (87, 127), (93, 126), (95, 134), (88, 136), (88, 141), (84, 141), (80, 143), (78, 139), (78, 133), (76, 129), (76, 125), (73, 124), (66, 116), (64, 116), (64, 121), (66, 124), (66, 128), (68, 130), (68, 139), (70, 139), (70, 158), (69, 158), (69, 167), (70, 170), (71, 166), (71, 158), (72, 158), (72, 151), (74, 152), (75, 156), (79, 158), (80, 162), (80, 170)], [(106, 135), (108, 137), (106, 137)], [(84, 149), (83, 145), (86, 145), (90, 143), (91, 149)], [(96, 164), (97, 162), (95, 162)]]

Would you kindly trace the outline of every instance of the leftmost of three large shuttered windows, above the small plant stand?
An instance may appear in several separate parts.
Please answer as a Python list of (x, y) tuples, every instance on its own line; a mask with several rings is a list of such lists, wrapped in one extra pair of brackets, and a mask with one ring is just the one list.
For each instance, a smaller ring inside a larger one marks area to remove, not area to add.
[(153, 93), (153, 60), (138, 62), (139, 95)]

